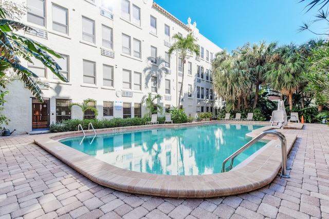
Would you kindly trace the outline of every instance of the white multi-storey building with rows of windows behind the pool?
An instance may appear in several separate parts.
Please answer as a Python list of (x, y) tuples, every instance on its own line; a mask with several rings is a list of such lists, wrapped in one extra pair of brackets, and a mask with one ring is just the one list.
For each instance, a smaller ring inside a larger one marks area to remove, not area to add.
[[(38, 102), (22, 82), (12, 83), (5, 98), (7, 129), (16, 134), (49, 129), (63, 119), (82, 119), (81, 108), (71, 103), (96, 100), (98, 119), (142, 117), (142, 97), (160, 94), (163, 112), (180, 104), (189, 116), (216, 113), (222, 101), (213, 90), (211, 61), (222, 49), (199, 33), (196, 23), (179, 21), (151, 0), (19, 0), (28, 11), (22, 21), (34, 28), (21, 32), (58, 53), (56, 59), (68, 83), (60, 81), (38, 60), (22, 61), (46, 82), (44, 103)], [(179, 88), (182, 66), (179, 53), (168, 50), (175, 33), (193, 32), (200, 56), (185, 63), (182, 97)], [(92, 104), (92, 103), (90, 103)], [(89, 112), (87, 118), (93, 118)]]

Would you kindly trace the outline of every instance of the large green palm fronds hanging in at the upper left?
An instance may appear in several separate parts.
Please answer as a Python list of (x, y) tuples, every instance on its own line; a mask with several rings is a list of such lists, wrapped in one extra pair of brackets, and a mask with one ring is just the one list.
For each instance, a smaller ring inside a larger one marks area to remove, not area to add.
[[(59, 79), (67, 82), (67, 79), (61, 74), (59, 70), (62, 68), (56, 61), (53, 60), (51, 55), (56, 58), (62, 58), (59, 53), (48, 48), (41, 43), (33, 41), (24, 35), (17, 34), (17, 30), (33, 30), (31, 27), (24, 25), (20, 22), (16, 22), (10, 19), (10, 13), (8, 13), (2, 5), (0, 5), (0, 61), (3, 61), (10, 65), (11, 69), (21, 78), (26, 84), (28, 89), (40, 102), (42, 99), (42, 90), (39, 87), (39, 83), (35, 80), (38, 78), (31, 70), (24, 67), (21, 64), (19, 57), (27, 60), (30, 63), (31, 57), (40, 60), (45, 67), (50, 69)], [(2, 77), (0, 77), (0, 80)]]

